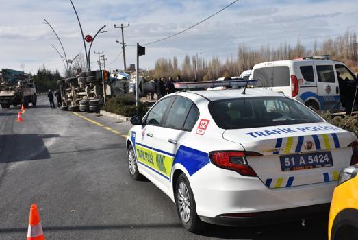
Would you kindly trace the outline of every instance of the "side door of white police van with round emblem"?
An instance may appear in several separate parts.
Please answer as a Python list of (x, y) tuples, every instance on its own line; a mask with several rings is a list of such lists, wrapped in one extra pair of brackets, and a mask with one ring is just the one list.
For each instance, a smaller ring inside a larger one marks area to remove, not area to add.
[(315, 61), (317, 75), (317, 95), (320, 110), (340, 109), (340, 88), (333, 63), (326, 60)]

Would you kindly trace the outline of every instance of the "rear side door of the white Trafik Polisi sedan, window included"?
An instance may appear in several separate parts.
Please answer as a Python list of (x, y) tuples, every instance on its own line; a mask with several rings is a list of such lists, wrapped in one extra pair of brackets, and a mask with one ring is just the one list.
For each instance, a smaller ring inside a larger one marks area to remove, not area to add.
[(166, 115), (163, 128), (153, 133), (153, 147), (158, 149), (155, 161), (162, 174), (162, 184), (170, 187), (170, 173), (175, 154), (183, 139), (190, 134), (199, 117), (199, 110), (190, 99), (175, 97), (175, 101)]

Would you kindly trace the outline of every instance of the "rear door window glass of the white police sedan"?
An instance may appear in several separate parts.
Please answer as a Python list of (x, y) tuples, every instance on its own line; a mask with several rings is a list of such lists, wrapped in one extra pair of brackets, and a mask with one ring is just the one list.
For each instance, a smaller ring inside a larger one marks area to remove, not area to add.
[(192, 101), (183, 97), (175, 98), (172, 107), (168, 112), (168, 117), (164, 123), (166, 128), (183, 129), (184, 122), (188, 116), (188, 112), (192, 107)]

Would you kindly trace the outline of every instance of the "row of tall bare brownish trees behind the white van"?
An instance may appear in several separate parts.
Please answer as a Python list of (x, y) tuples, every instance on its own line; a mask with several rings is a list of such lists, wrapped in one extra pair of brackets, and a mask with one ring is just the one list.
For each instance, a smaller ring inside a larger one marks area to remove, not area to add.
[(216, 80), (218, 77), (238, 76), (260, 62), (325, 54), (331, 55), (334, 60), (344, 62), (350, 69), (358, 72), (357, 51), (357, 34), (347, 30), (342, 36), (324, 39), (320, 47), (315, 40), (312, 49), (306, 49), (298, 38), (295, 46), (281, 43), (279, 47), (270, 47), (267, 44), (261, 45), (259, 49), (251, 49), (249, 45), (240, 44), (237, 56), (235, 58), (228, 57), (225, 61), (220, 60), (217, 56), (205, 60), (198, 55), (191, 58), (186, 55), (183, 62), (179, 64), (176, 56), (159, 58), (155, 62), (151, 75), (154, 78), (181, 75), (183, 80)]

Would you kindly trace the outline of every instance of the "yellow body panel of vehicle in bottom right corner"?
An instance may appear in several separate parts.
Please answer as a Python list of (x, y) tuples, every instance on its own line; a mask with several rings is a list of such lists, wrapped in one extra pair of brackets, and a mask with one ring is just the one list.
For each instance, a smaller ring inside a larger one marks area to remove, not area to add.
[[(335, 217), (344, 209), (358, 210), (358, 176), (335, 187), (329, 211), (328, 239), (331, 239), (331, 231)], [(358, 219), (357, 219), (358, 221)]]

